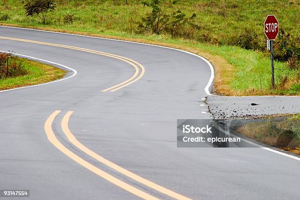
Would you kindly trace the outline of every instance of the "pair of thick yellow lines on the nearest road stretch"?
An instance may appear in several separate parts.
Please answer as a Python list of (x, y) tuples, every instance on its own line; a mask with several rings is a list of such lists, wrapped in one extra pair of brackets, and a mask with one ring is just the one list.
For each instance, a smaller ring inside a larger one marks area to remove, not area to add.
[[(75, 162), (79, 163), (80, 165), (82, 165), (83, 167), (87, 168), (88, 170), (92, 171), (93, 173), (99, 175), (100, 177), (108, 180), (109, 182), (123, 188), (124, 190), (142, 198), (145, 200), (158, 200), (156, 197), (151, 196), (150, 194), (137, 189), (127, 183), (125, 183), (124, 181), (100, 170), (98, 167), (90, 164), (89, 162), (85, 161), (84, 159), (82, 159), (81, 157), (79, 157), (78, 155), (76, 155), (75, 153), (73, 153), (72, 151), (70, 151), (69, 149), (67, 149), (65, 146), (63, 146), (55, 137), (55, 134), (53, 133), (52, 130), (52, 123), (55, 119), (55, 117), (60, 113), (60, 110), (56, 110), (54, 111), (50, 117), (47, 119), (46, 123), (45, 123), (45, 131), (47, 134), (47, 137), (49, 139), (49, 141), (60, 151), (62, 151), (64, 154), (66, 154), (67, 156), (69, 156), (71, 159), (73, 159)], [(158, 192), (161, 192), (165, 195), (168, 195), (176, 200), (191, 200), (183, 195), (180, 195), (176, 192), (173, 192), (165, 187), (162, 187), (154, 182), (151, 182), (150, 180), (147, 180), (139, 175), (136, 175), (132, 172), (129, 172), (128, 170), (116, 165), (113, 162), (110, 162), (109, 160), (103, 158), (102, 156), (100, 156), (99, 154), (95, 153), (94, 151), (88, 149), (87, 147), (85, 147), (84, 145), (82, 145), (76, 138), (75, 136), (72, 134), (72, 132), (69, 129), (69, 119), (70, 116), (72, 115), (73, 111), (68, 111), (61, 122), (61, 128), (63, 130), (63, 132), (65, 133), (65, 135), (67, 136), (68, 140), (75, 145), (79, 150), (82, 150), (83, 152), (85, 152), (86, 154), (90, 155), (91, 157), (95, 158), (96, 160), (98, 160), (99, 162), (101, 162), (102, 164), (105, 164), (106, 166), (118, 171), (119, 173), (121, 173), (122, 175), (125, 175), (133, 180), (136, 180)]]

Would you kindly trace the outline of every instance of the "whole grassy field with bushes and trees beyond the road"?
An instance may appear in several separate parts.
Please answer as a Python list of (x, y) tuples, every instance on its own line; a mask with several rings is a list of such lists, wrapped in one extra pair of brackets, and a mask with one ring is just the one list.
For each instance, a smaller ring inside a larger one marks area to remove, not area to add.
[[(214, 92), (222, 95), (300, 95), (300, 1), (36, 1), (2, 1), (0, 23), (189, 50), (214, 64)], [(267, 14), (280, 27), (275, 90), (263, 33)]]

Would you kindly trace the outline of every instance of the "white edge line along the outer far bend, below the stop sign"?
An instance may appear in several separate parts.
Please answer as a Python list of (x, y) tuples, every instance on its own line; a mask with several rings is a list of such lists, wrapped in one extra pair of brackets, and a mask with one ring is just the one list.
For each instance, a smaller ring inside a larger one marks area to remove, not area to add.
[[(8, 28), (17, 28), (17, 29), (26, 29), (26, 30), (36, 30), (36, 31), (43, 31), (43, 32), (50, 32), (50, 33), (59, 33), (59, 34), (66, 34), (66, 35), (75, 35), (75, 36), (81, 36), (81, 37), (90, 37), (90, 38), (98, 38), (98, 39), (104, 39), (104, 40), (114, 40), (114, 41), (120, 41), (120, 42), (128, 42), (128, 43), (135, 43), (135, 44), (141, 44), (141, 45), (148, 45), (148, 46), (153, 46), (153, 47), (161, 47), (161, 48), (166, 48), (166, 49), (171, 49), (171, 50), (178, 50), (178, 51), (182, 51), (194, 56), (197, 56), (199, 58), (201, 58), (203, 61), (205, 61), (207, 63), (207, 65), (210, 68), (210, 78), (209, 81), (206, 85), (206, 87), (204, 88), (204, 91), (207, 95), (209, 96), (216, 96), (216, 97), (234, 97), (234, 96), (220, 96), (220, 95), (213, 95), (209, 92), (209, 88), (211, 87), (214, 77), (215, 77), (215, 71), (214, 71), (214, 67), (212, 66), (212, 64), (204, 57), (197, 55), (195, 53), (186, 51), (186, 50), (179, 50), (179, 49), (175, 49), (172, 47), (164, 47), (164, 46), (159, 46), (159, 45), (152, 45), (152, 44), (147, 44), (147, 43), (140, 43), (140, 42), (133, 42), (133, 41), (127, 41), (127, 40), (119, 40), (119, 39), (111, 39), (111, 38), (103, 38), (103, 37), (96, 37), (96, 36), (89, 36), (89, 35), (78, 35), (78, 34), (74, 34), (74, 33), (63, 33), (63, 32), (57, 32), (57, 31), (49, 31), (49, 30), (39, 30), (39, 29), (34, 29), (34, 28), (22, 28), (22, 27), (14, 27), (14, 26), (6, 26), (6, 25), (0, 25), (0, 27), (8, 27)], [(298, 96), (236, 96), (235, 98), (240, 98), (240, 97), (293, 97), (293, 98), (300, 98)]]

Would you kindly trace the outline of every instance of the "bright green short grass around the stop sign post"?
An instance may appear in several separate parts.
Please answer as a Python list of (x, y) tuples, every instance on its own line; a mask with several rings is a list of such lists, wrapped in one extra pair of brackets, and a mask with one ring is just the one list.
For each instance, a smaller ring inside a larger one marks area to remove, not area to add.
[[(204, 48), (205, 49), (205, 48)], [(224, 57), (230, 64), (235, 66), (235, 77), (230, 81), (232, 89), (237, 91), (247, 91), (263, 94), (265, 90), (271, 88), (271, 64), (270, 58), (261, 52), (244, 50), (238, 47), (211, 47), (210, 52)], [(275, 84), (280, 85), (280, 78), (284, 75), (289, 77), (297, 76), (296, 71), (290, 70), (285, 63), (275, 62)], [(298, 84), (299, 85), (299, 84)], [(298, 88), (276, 89), (270, 94), (299, 94)]]

